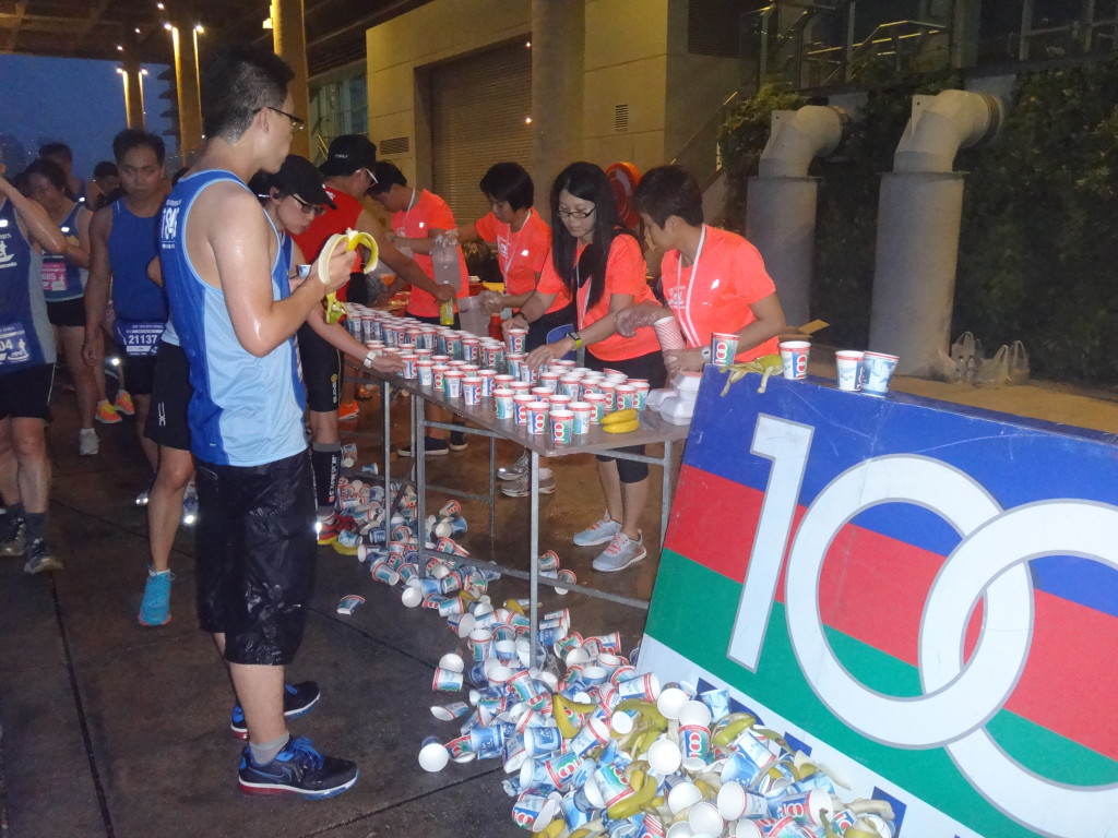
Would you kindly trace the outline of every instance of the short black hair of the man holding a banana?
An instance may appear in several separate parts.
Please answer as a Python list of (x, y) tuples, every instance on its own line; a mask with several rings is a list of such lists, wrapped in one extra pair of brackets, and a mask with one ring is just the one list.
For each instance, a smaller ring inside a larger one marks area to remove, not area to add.
[(202, 131), (236, 142), (265, 107), (280, 107), (294, 70), (266, 49), (219, 47), (206, 56), (201, 74)]

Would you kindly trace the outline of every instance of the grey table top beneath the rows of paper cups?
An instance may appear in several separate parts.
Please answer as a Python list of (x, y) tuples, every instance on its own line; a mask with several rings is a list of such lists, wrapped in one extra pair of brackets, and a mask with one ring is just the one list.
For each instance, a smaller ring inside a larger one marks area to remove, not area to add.
[(607, 434), (601, 430), (600, 426), (591, 425), (589, 434), (576, 436), (570, 445), (556, 445), (551, 441), (550, 435), (529, 434), (527, 427), (517, 425), (512, 419), (498, 419), (496, 408), (492, 399), (486, 399), (482, 404), (466, 404), (461, 398), (448, 399), (442, 393), (436, 393), (429, 387), (419, 387), (419, 381), (415, 379), (379, 374), (378, 378), (388, 381), (392, 387), (418, 396), (432, 404), (444, 407), (505, 439), (520, 442), (524, 448), (536, 451), (541, 457), (569, 457), (574, 454), (608, 451), (631, 445), (669, 442), (686, 439), (691, 430), (690, 425), (672, 425), (662, 419), (656, 411), (645, 410), (641, 413), (641, 427), (637, 430), (628, 434)]

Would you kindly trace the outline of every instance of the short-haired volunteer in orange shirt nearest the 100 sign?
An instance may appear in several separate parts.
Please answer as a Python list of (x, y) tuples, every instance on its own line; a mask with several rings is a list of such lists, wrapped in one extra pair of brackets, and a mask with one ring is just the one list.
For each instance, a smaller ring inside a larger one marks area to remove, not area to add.
[(664, 250), (661, 282), (667, 306), (644, 303), (619, 317), (626, 333), (675, 317), (686, 344), (665, 350), (667, 371), (701, 370), (710, 361), (713, 332), (738, 335), (735, 360), (775, 353), (786, 331), (776, 286), (757, 248), (728, 230), (703, 223), (702, 192), (684, 169), (645, 172), (633, 194), (650, 242)]

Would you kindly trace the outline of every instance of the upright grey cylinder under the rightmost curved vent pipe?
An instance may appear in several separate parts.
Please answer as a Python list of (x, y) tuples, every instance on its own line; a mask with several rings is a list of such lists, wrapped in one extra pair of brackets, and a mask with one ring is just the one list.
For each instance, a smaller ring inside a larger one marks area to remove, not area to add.
[(870, 349), (900, 355), (906, 375), (932, 375), (950, 341), (963, 178), (882, 175)]

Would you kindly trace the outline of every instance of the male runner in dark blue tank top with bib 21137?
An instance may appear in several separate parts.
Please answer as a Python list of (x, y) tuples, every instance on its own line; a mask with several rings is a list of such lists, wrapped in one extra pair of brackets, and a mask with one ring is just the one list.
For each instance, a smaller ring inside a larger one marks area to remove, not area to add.
[(164, 151), (162, 139), (134, 128), (125, 128), (113, 139), (124, 197), (97, 210), (89, 223), (82, 350), (87, 364), (101, 363), (101, 324), (112, 286), (114, 332), (124, 359), (124, 380), (135, 399), (136, 438), (153, 472), (159, 464), (159, 448), (143, 435), (143, 429), (151, 410), (155, 349), (167, 325), (167, 297), (148, 278), (148, 265), (155, 258), (155, 226), (167, 196)]

